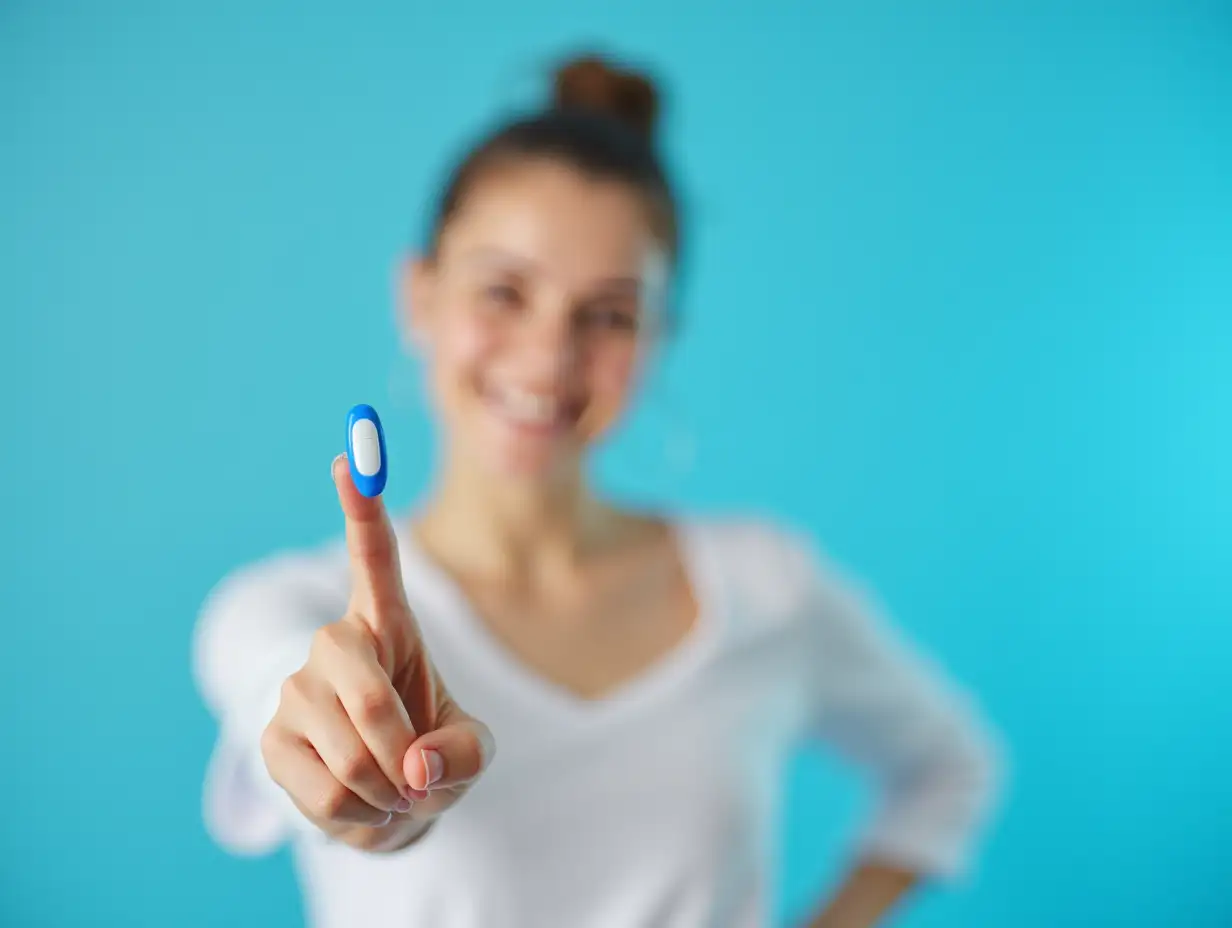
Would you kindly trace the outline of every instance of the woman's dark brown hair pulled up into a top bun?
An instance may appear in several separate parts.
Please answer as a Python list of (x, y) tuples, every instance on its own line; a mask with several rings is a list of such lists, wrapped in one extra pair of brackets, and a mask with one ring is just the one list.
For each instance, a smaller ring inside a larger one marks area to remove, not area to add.
[(564, 62), (554, 71), (546, 108), (490, 132), (450, 175), (429, 228), (430, 250), (436, 250), (441, 232), (480, 176), (517, 159), (547, 158), (637, 190), (646, 198), (654, 233), (676, 260), (676, 200), (654, 139), (659, 108), (659, 94), (642, 73), (599, 54)]

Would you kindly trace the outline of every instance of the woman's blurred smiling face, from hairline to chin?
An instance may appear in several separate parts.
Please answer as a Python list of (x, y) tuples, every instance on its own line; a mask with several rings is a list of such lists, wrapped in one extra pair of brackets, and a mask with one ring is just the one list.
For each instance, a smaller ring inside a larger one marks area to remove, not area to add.
[(633, 394), (667, 269), (625, 184), (548, 160), (479, 179), (404, 291), (452, 451), (505, 477), (572, 473)]

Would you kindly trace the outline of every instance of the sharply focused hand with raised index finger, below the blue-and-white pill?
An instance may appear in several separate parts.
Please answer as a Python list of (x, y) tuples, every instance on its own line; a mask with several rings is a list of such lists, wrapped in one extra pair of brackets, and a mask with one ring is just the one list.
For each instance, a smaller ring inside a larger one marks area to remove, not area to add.
[(282, 686), (261, 736), (274, 780), (325, 833), (370, 850), (418, 839), (492, 759), (487, 726), (450, 698), (407, 603), (379, 497), (333, 465), (346, 519), (351, 600)]

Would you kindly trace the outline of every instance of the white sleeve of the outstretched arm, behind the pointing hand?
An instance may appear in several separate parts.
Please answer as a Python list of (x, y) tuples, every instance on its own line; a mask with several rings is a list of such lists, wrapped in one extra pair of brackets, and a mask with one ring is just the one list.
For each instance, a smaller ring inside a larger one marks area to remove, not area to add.
[(282, 683), (303, 667), (317, 629), (345, 609), (319, 564), (286, 555), (241, 568), (211, 590), (193, 635), (193, 677), (218, 737), (206, 770), (206, 829), (237, 854), (274, 850), (307, 829), (261, 758)]

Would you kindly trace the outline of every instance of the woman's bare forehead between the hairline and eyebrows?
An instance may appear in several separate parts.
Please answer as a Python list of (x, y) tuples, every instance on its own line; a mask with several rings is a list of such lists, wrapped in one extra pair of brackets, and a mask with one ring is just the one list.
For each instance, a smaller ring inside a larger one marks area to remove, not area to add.
[(505, 255), (508, 264), (574, 286), (660, 276), (664, 265), (634, 189), (547, 160), (480, 176), (442, 232), (440, 251), (445, 263)]

